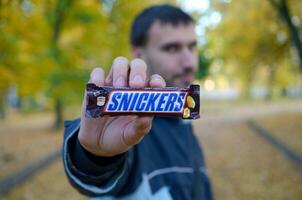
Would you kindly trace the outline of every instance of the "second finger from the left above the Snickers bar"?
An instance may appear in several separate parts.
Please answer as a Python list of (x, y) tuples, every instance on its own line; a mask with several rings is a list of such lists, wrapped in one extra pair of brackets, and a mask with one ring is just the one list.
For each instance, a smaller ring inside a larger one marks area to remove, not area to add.
[(125, 57), (117, 57), (112, 64), (112, 77), (114, 87), (126, 87), (128, 83), (129, 63)]

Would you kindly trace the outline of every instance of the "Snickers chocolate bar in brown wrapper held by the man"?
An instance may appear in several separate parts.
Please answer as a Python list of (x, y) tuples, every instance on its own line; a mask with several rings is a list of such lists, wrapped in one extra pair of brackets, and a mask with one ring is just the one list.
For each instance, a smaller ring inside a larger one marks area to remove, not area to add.
[(165, 115), (199, 118), (199, 85), (188, 88), (113, 88), (86, 85), (86, 117)]

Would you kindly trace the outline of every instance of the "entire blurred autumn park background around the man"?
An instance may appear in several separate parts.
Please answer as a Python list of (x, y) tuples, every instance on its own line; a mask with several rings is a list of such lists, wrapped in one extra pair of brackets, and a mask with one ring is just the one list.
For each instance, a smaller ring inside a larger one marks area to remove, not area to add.
[(87, 199), (57, 156), (63, 121), (93, 67), (131, 59), (131, 21), (155, 3), (196, 19), (216, 198), (302, 199), (301, 0), (0, 0), (0, 199)]

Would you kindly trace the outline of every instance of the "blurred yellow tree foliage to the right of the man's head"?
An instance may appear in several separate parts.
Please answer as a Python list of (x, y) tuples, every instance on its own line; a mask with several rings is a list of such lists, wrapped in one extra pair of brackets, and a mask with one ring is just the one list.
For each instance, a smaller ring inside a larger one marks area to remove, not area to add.
[(227, 75), (239, 80), (245, 96), (252, 85), (273, 88), (286, 74), (285, 87), (293, 79), (289, 33), (276, 20), (277, 12), (268, 1), (213, 1), (221, 14), (220, 23), (208, 31), (211, 54), (226, 68)]

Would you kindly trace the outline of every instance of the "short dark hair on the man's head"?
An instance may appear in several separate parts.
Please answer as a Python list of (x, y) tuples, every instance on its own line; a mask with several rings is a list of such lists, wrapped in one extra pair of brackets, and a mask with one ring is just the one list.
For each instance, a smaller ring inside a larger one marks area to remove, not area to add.
[(130, 34), (132, 46), (139, 47), (147, 43), (148, 31), (155, 21), (172, 24), (173, 26), (177, 26), (180, 23), (194, 23), (190, 15), (175, 6), (169, 4), (151, 6), (138, 14), (133, 21)]

